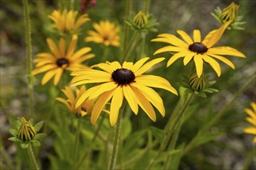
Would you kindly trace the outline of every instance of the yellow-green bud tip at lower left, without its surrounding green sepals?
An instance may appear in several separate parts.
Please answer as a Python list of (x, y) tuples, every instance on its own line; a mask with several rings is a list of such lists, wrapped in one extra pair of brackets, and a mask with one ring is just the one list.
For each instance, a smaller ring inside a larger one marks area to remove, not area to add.
[(36, 135), (35, 128), (33, 128), (32, 124), (29, 121), (26, 121), (24, 117), (22, 117), (22, 124), (18, 130), (18, 137), (21, 141), (31, 141)]

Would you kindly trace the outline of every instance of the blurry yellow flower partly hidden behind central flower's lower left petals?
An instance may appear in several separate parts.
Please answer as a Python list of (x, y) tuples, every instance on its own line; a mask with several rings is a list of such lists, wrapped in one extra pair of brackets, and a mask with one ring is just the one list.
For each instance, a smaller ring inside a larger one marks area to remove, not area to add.
[(75, 108), (75, 104), (77, 103), (77, 100), (79, 97), (81, 97), (82, 93), (85, 93), (86, 89), (85, 86), (82, 86), (81, 89), (75, 89), (75, 96), (73, 91), (71, 90), (71, 87), (65, 87), (61, 90), (67, 99), (57, 97), (56, 100), (60, 101), (61, 103), (65, 104), (68, 108), (68, 110), (71, 111), (72, 114), (84, 117), (86, 114), (91, 113), (91, 107), (94, 104), (95, 100), (86, 100), (79, 106), (78, 108)]

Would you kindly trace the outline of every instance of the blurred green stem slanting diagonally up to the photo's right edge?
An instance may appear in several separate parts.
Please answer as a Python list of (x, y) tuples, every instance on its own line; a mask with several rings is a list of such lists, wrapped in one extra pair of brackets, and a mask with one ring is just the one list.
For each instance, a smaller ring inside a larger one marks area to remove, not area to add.
[(234, 104), (234, 101), (237, 99), (237, 97), (239, 97), (242, 93), (244, 93), (245, 90), (247, 90), (248, 87), (251, 86), (252, 83), (254, 83), (254, 81), (256, 80), (256, 75), (254, 75), (251, 80), (249, 80), (244, 87), (241, 87), (240, 90), (237, 91), (237, 93), (234, 95), (234, 97), (232, 98), (232, 100), (230, 100), (230, 102), (228, 104), (225, 105), (225, 107), (223, 107), (222, 110), (220, 110), (215, 117), (213, 117), (213, 119), (211, 119), (211, 121), (209, 121), (208, 124), (206, 124), (205, 127), (203, 127), (196, 135), (194, 138), (192, 138), (192, 140), (189, 142), (189, 144), (185, 147), (185, 150), (183, 151), (183, 155), (186, 155), (190, 150), (192, 150), (193, 146), (195, 145), (196, 141), (198, 141), (198, 139), (201, 137), (201, 135), (208, 131), (209, 128), (213, 127), (214, 124), (217, 123), (217, 121), (220, 120), (221, 117), (223, 117), (223, 115), (227, 112), (228, 109), (230, 109), (230, 107), (232, 106), (232, 104)]

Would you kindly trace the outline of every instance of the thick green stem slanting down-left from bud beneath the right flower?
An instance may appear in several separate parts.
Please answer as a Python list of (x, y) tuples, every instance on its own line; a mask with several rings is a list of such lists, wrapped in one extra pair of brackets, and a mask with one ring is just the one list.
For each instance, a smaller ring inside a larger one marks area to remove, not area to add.
[[(166, 136), (164, 138), (163, 143), (161, 144), (159, 150), (157, 151), (157, 155), (152, 159), (152, 161), (150, 162), (150, 164), (148, 165), (147, 169), (149, 170), (150, 168), (152, 168), (156, 162), (157, 162), (157, 158), (160, 157), (161, 153), (164, 151), (164, 149), (166, 148), (166, 146), (169, 143), (169, 140), (171, 138), (171, 135), (174, 133), (175, 127), (177, 126), (178, 122), (180, 121), (180, 119), (182, 118), (183, 114), (185, 113), (185, 110), (187, 109), (187, 107), (189, 107), (189, 104), (192, 102), (193, 97), (195, 96), (194, 93), (189, 95), (189, 98), (186, 100), (184, 106), (182, 107), (182, 109), (178, 112), (177, 117), (174, 118), (173, 123), (170, 124), (170, 127), (167, 128), (166, 130)], [(177, 129), (177, 128), (176, 128)]]

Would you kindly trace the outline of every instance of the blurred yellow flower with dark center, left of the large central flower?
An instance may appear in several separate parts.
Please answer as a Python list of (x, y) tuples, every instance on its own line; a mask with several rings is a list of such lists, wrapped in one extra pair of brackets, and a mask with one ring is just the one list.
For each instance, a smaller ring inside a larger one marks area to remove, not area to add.
[(74, 52), (74, 49), (77, 46), (77, 41), (78, 36), (72, 36), (69, 46), (66, 47), (66, 42), (63, 38), (60, 39), (58, 46), (52, 39), (47, 39), (47, 44), (52, 53), (37, 54), (36, 59), (33, 60), (33, 62), (36, 63), (36, 68), (33, 70), (32, 74), (36, 75), (38, 73), (47, 72), (43, 76), (41, 83), (44, 85), (54, 76), (54, 86), (56, 86), (61, 79), (64, 70), (75, 70), (88, 67), (82, 64), (82, 62), (95, 55), (88, 53), (91, 51), (91, 48), (89, 47), (84, 47), (77, 52)]

